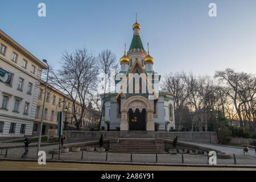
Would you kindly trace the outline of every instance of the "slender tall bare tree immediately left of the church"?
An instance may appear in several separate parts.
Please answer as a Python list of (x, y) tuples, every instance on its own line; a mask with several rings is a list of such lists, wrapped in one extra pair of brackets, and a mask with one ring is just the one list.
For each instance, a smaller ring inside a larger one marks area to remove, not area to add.
[(98, 63), (99, 63), (99, 69), (101, 73), (104, 73), (104, 95), (102, 98), (102, 107), (101, 107), (101, 117), (100, 117), (100, 125), (101, 125), (101, 120), (102, 120), (102, 115), (103, 115), (103, 108), (105, 108), (105, 96), (106, 96), (106, 90), (109, 87), (109, 80), (110, 76), (112, 73), (112, 70), (114, 70), (114, 73), (117, 71), (118, 68), (118, 63), (116, 61), (115, 54), (110, 51), (109, 49), (105, 49), (104, 51), (101, 51), (101, 53), (98, 54)]

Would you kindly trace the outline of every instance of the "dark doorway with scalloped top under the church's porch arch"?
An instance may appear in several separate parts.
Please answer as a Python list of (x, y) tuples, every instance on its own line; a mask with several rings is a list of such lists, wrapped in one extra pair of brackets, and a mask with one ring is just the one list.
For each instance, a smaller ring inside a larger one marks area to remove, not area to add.
[(141, 113), (138, 108), (135, 112), (129, 109), (129, 130), (146, 130), (146, 109)]

